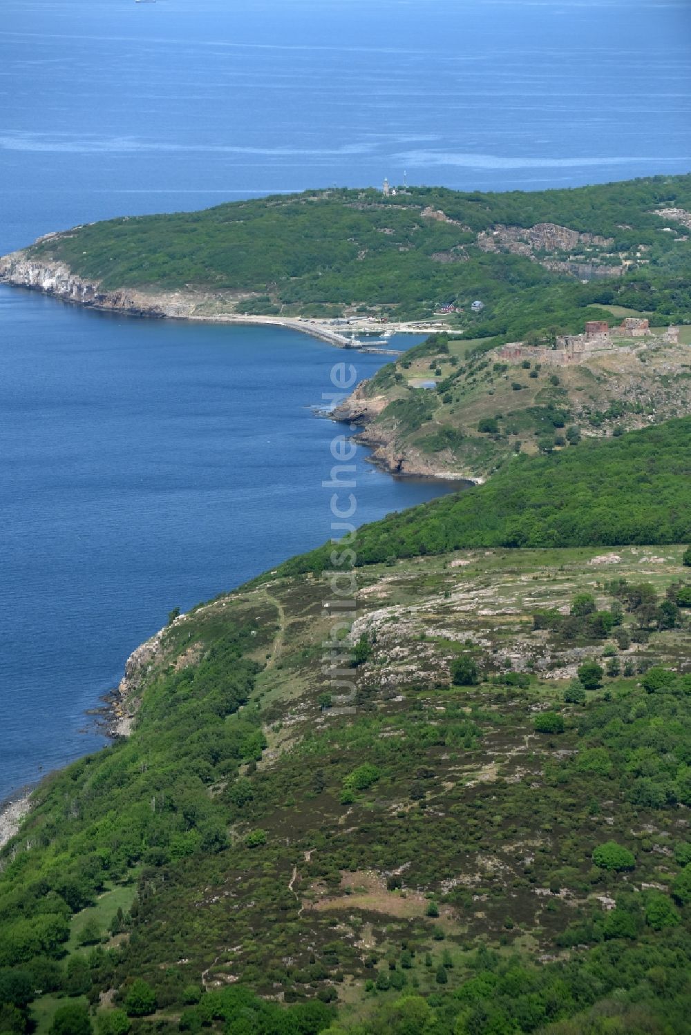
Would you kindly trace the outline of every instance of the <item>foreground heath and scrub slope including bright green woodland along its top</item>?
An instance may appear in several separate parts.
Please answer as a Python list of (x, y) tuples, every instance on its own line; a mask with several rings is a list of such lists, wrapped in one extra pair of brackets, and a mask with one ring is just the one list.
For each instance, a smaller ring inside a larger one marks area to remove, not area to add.
[(0, 855), (0, 1031), (689, 1031), (690, 431), (362, 529), (335, 641), (333, 545), (172, 613)]

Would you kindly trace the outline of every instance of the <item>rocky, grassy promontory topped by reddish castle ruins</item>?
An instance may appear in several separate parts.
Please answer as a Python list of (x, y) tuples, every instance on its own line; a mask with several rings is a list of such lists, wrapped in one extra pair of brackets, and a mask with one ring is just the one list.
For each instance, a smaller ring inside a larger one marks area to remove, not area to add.
[(516, 454), (560, 452), (691, 413), (691, 333), (668, 338), (613, 331), (607, 348), (559, 365), (545, 348), (524, 346), (514, 359), (493, 338), (431, 334), (335, 415), (364, 424), (361, 440), (390, 470), (486, 478)]

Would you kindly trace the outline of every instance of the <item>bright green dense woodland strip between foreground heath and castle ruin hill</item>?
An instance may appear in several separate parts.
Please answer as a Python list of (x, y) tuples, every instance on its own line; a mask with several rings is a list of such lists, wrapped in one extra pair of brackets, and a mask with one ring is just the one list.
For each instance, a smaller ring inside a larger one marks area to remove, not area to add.
[[(516, 456), (484, 485), (356, 534), (356, 563), (461, 546), (586, 546), (691, 538), (691, 418), (548, 456)], [(330, 566), (332, 548), (286, 561), (285, 574)]]

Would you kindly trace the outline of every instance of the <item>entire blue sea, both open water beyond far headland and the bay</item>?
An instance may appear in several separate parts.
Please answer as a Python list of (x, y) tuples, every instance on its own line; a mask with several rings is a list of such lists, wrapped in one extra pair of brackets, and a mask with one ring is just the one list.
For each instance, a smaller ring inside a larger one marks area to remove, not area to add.
[[(404, 171), (686, 172), (690, 72), (687, 0), (3, 0), (0, 253)], [(0, 799), (100, 743), (84, 710), (171, 607), (328, 535), (334, 430), (310, 407), (338, 358), (0, 289)], [(363, 521), (440, 491), (365, 457)]]

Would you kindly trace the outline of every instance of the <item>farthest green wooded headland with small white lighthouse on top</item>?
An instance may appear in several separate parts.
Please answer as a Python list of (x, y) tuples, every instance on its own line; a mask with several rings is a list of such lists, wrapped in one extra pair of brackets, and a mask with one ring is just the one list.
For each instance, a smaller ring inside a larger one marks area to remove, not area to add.
[[(682, 214), (670, 226), (656, 209)], [(680, 219), (689, 209), (688, 176), (535, 194), (332, 189), (112, 219), (53, 236), (29, 255), (62, 260), (105, 289), (234, 295), (238, 312), (412, 318), (453, 304), (459, 327), (516, 337), (580, 329), (603, 317), (603, 303), (686, 319), (691, 253)], [(479, 234), (497, 226), (543, 223), (586, 237), (534, 242), (531, 258), (481, 246)], [(613, 267), (625, 275), (609, 276)], [(469, 309), (477, 298), (481, 314)]]

